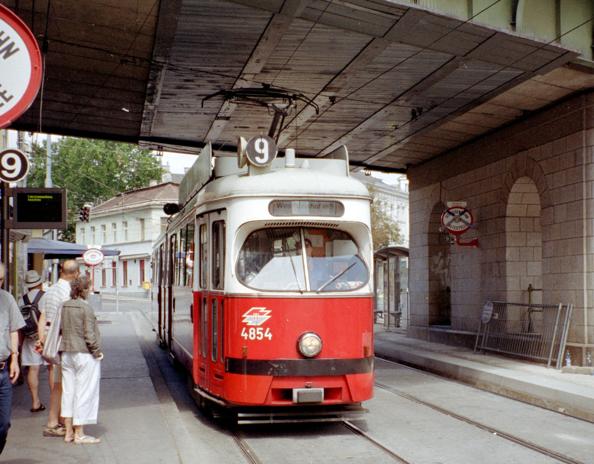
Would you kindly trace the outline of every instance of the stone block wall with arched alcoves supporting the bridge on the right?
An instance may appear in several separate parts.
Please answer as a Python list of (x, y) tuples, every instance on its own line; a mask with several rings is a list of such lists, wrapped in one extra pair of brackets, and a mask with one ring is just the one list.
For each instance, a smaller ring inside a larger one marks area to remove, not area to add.
[[(485, 300), (573, 303), (568, 341), (594, 351), (594, 93), (409, 170), (410, 324), (435, 324), (437, 253), (448, 255), (451, 330), (476, 332)], [(440, 243), (465, 201), (478, 248)], [(437, 237), (437, 239), (436, 239)], [(531, 285), (533, 291), (529, 292)], [(542, 290), (541, 290), (542, 289)]]

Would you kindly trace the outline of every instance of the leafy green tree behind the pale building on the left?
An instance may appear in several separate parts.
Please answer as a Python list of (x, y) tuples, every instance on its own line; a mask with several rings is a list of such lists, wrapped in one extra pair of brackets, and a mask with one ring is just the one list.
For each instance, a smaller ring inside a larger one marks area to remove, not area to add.
[[(31, 147), (29, 187), (45, 186), (46, 145), (43, 141)], [(98, 205), (118, 193), (147, 187), (150, 179), (161, 179), (161, 173), (156, 155), (137, 145), (72, 137), (53, 142), (52, 183), (65, 187), (68, 196), (68, 228), (59, 231), (59, 239), (75, 241), (81, 206)]]

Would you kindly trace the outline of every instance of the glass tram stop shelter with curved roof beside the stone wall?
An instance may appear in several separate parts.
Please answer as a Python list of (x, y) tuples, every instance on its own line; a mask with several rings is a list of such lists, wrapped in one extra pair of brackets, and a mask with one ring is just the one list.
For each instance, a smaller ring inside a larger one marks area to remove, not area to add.
[(374, 322), (384, 326), (408, 325), (409, 250), (402, 246), (388, 246), (374, 252)]

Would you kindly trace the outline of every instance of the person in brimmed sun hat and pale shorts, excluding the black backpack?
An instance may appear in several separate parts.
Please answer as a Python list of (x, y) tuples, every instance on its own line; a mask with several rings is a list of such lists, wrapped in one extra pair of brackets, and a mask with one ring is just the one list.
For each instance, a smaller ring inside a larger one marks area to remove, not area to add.
[[(41, 290), (43, 285), (43, 278), (39, 275), (37, 271), (27, 271), (25, 274), (25, 287), (27, 287), (28, 291), (26, 296), (28, 298), (29, 303), (33, 303), (37, 294), (41, 292), (42, 294), (45, 293)], [(25, 303), (24, 296), (19, 298), (18, 300), (18, 307), (23, 306)], [(37, 305), (39, 307), (39, 304)], [(39, 310), (37, 311), (37, 319), (39, 319)], [(27, 384), (29, 385), (29, 391), (31, 392), (31, 399), (33, 403), (31, 405), (31, 412), (39, 412), (44, 411), (45, 406), (39, 401), (39, 370), (43, 364), (43, 357), (36, 351), (35, 342), (37, 338), (23, 338), (23, 349), (21, 351), (22, 362), (23, 366), (29, 366), (29, 373), (27, 374)]]

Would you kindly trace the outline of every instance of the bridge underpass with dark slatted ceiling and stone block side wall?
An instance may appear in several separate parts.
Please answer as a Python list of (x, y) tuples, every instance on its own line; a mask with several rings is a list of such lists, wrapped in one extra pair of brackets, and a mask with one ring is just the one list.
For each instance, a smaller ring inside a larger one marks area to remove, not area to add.
[[(266, 131), (281, 154), (346, 145), (353, 170), (409, 178), (410, 336), (467, 342), (485, 300), (530, 297), (573, 303), (574, 362), (594, 351), (592, 1), (1, 3), (45, 62), (11, 128), (230, 156)], [(446, 240), (456, 205), (467, 231)]]

